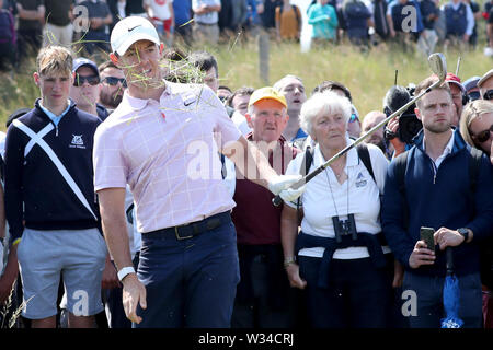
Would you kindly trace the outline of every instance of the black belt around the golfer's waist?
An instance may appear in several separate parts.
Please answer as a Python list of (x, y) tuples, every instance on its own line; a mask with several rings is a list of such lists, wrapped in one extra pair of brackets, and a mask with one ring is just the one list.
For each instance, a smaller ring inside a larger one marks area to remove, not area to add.
[(177, 241), (188, 240), (199, 235), (203, 232), (211, 231), (219, 228), (223, 223), (231, 221), (229, 211), (221, 212), (200, 221), (191, 222), (184, 225), (167, 228), (162, 230), (146, 232), (145, 236), (162, 236), (163, 238), (176, 238)]

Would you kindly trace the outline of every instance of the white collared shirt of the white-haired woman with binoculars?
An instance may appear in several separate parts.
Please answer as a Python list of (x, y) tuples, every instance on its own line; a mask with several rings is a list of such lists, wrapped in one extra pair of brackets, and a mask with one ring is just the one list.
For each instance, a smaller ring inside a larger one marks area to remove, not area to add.
[[(346, 138), (346, 142), (347, 144), (353, 143), (349, 138)], [(333, 238), (335, 237), (335, 233), (332, 217), (339, 214), (340, 220), (345, 220), (348, 213), (354, 214), (356, 230), (358, 232), (367, 232), (370, 234), (381, 232), (379, 221), (380, 192), (383, 192), (389, 162), (378, 147), (374, 144), (367, 144), (367, 147), (377, 184), (375, 184), (363, 161), (359, 161), (356, 149), (351, 149), (347, 152), (346, 165), (344, 167), (344, 172), (348, 178), (343, 184), (337, 182), (330, 166), (307, 184), (301, 195), (305, 213), (301, 221), (301, 230), (303, 233)], [(303, 156), (305, 152), (298, 154), (289, 163), (286, 174), (299, 174)], [(325, 163), (325, 159), (320, 151), (320, 145), (317, 144), (314, 147), (313, 163), (310, 172), (323, 163)], [(286, 205), (296, 208), (294, 203)], [(322, 257), (323, 252), (324, 248), (317, 247), (301, 249), (299, 255)], [(383, 248), (383, 253), (388, 252), (390, 249)], [(365, 257), (369, 257), (366, 247), (337, 249), (333, 255), (334, 259), (357, 259)]]

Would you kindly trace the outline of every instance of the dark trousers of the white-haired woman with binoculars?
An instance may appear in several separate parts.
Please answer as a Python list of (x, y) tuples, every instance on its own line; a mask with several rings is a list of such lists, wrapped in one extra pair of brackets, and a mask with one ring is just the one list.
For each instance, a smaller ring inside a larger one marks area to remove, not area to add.
[(300, 277), (307, 281), (308, 318), (314, 328), (385, 328), (391, 283), (385, 268), (370, 258), (333, 259), (329, 288), (317, 285), (321, 258), (299, 257)]

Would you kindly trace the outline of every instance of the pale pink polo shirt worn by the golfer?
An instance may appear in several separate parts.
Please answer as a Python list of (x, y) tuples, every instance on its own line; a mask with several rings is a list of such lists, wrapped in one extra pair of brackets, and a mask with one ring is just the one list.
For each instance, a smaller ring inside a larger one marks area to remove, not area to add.
[(141, 233), (234, 207), (218, 145), (237, 141), (240, 131), (209, 88), (165, 84), (159, 103), (125, 92), (94, 136), (94, 188), (128, 184)]

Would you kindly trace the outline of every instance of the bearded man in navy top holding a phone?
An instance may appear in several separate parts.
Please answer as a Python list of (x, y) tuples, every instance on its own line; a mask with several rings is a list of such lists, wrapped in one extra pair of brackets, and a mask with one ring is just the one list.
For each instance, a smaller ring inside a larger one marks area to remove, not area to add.
[[(431, 77), (421, 82), (415, 94), (429, 88), (436, 79)], [(460, 287), (459, 318), (465, 327), (481, 327), (479, 246), (493, 233), (491, 164), (482, 155), (477, 190), (471, 192), (472, 155), (458, 130), (451, 128), (455, 112), (447, 84), (426, 93), (416, 107), (423, 130), (411, 150), (400, 155), (406, 158), (404, 189), (400, 185), (398, 162), (393, 161), (387, 174), (381, 212), (389, 246), (405, 268), (403, 290), (415, 292), (415, 312), (411, 312), (410, 325), (439, 327), (445, 316), (442, 307), (445, 249), (451, 248)], [(422, 226), (436, 230), (435, 246), (431, 249), (420, 240)]]

